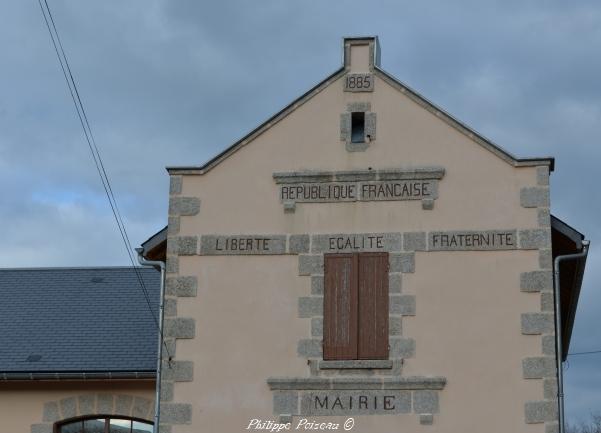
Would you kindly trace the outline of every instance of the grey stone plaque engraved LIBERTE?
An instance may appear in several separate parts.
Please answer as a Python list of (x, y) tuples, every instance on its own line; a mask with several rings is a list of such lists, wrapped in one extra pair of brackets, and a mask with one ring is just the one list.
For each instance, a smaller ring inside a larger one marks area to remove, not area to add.
[(201, 255), (285, 254), (285, 235), (203, 235)]

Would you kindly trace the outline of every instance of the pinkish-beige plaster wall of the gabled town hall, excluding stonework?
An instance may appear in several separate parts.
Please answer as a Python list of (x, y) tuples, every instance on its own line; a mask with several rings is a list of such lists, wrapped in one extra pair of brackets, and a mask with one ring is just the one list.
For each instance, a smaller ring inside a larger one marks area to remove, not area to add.
[[(365, 152), (347, 152), (340, 140), (351, 102), (370, 102), (377, 114)], [(284, 213), (272, 178), (412, 166), (445, 168), (433, 210), (391, 201), (299, 203)], [(536, 228), (536, 209), (520, 206), (520, 189), (536, 182), (535, 167), (513, 167), (381, 79), (364, 94), (343, 92), (338, 80), (206, 174), (183, 176), (181, 195), (201, 207), (181, 217), (179, 236)], [(403, 318), (416, 351), (402, 374), (447, 378), (440, 413), (433, 425), (412, 414), (355, 417), (354, 431), (543, 432), (524, 422), (524, 403), (543, 398), (541, 383), (522, 377), (522, 359), (541, 355), (540, 336), (520, 331), (520, 315), (540, 308), (538, 294), (520, 292), (520, 273), (537, 268), (537, 250), (417, 252), (403, 280), (416, 296), (416, 315)], [(297, 313), (310, 279), (298, 276), (297, 256), (181, 256), (179, 275), (196, 276), (198, 293), (177, 304), (196, 334), (176, 343), (177, 359), (194, 362), (194, 380), (175, 383), (173, 401), (192, 404), (192, 421), (173, 432), (242, 432), (252, 418), (277, 419), (266, 379), (309, 376), (296, 353), (310, 337)]]

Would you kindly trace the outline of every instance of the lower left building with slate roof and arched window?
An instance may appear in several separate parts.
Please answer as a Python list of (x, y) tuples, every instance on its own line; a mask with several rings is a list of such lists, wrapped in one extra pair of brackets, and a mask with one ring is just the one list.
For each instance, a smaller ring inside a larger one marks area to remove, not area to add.
[(0, 270), (0, 431), (152, 432), (159, 285), (152, 268)]

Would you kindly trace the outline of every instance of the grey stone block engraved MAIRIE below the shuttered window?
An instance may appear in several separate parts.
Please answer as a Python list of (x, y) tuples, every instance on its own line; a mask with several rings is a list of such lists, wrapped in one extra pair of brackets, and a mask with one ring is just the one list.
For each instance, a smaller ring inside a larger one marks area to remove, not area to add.
[(301, 397), (302, 415), (395, 415), (410, 412), (410, 391), (314, 391)]

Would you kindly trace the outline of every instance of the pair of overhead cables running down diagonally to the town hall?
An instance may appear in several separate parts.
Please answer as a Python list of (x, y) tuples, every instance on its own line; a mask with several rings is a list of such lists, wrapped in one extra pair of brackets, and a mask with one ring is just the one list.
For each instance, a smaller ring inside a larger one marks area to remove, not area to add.
[[(43, 3), (42, 3), (43, 1)], [(86, 114), (83, 102), (79, 95), (79, 90), (77, 89), (77, 84), (75, 82), (75, 78), (73, 77), (73, 73), (71, 72), (71, 67), (69, 66), (69, 61), (67, 60), (67, 54), (63, 48), (63, 44), (58, 34), (58, 30), (56, 29), (56, 24), (54, 22), (54, 18), (52, 17), (52, 12), (50, 11), (50, 6), (48, 5), (47, 0), (38, 0), (40, 5), (40, 9), (42, 10), (42, 15), (44, 16), (44, 22), (46, 23), (46, 27), (48, 29), (48, 33), (50, 33), (50, 39), (52, 39), (52, 45), (54, 46), (54, 51), (56, 52), (56, 56), (61, 66), (61, 70), (63, 71), (63, 76), (65, 77), (65, 81), (67, 83), (67, 87), (69, 88), (69, 93), (71, 94), (71, 99), (73, 100), (73, 104), (75, 105), (75, 110), (77, 111), (77, 117), (79, 118), (79, 123), (83, 129), (83, 133), (88, 143), (88, 148), (90, 149), (90, 153), (92, 154), (92, 159), (94, 161), (94, 165), (96, 166), (96, 170), (100, 177), (100, 181), (102, 183), (102, 188), (106, 194), (106, 197), (109, 201), (109, 205), (111, 207), (111, 212), (117, 223), (117, 227), (119, 229), (119, 233), (121, 235), (121, 239), (123, 240), (123, 244), (125, 245), (125, 250), (127, 251), (127, 255), (132, 264), (132, 269), (136, 274), (136, 278), (138, 280), (140, 289), (142, 290), (142, 294), (144, 295), (144, 299), (146, 300), (146, 304), (150, 311), (150, 314), (154, 320), (154, 323), (157, 327), (157, 330), (161, 332), (161, 342), (165, 347), (165, 351), (169, 358), (171, 358), (171, 354), (169, 353), (169, 348), (164, 342), (163, 333), (160, 330), (159, 322), (155, 317), (152, 311), (152, 305), (150, 302), (150, 296), (148, 294), (148, 289), (144, 284), (144, 279), (140, 274), (137, 266), (135, 265), (134, 257), (134, 249), (132, 248), (131, 242), (129, 240), (129, 236), (127, 234), (127, 230), (125, 228), (125, 223), (123, 222), (123, 218), (121, 217), (121, 212), (119, 211), (119, 206), (117, 205), (117, 200), (115, 198), (115, 194), (113, 193), (113, 188), (111, 187), (111, 183), (109, 180), (109, 176), (104, 168), (104, 163), (102, 162), (102, 157), (100, 156), (100, 151), (98, 146), (96, 145), (96, 140), (94, 139), (94, 135), (92, 134), (92, 128), (90, 126), (90, 122), (88, 121), (88, 116)]]

